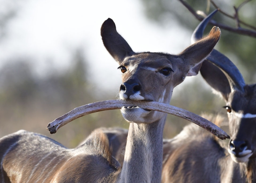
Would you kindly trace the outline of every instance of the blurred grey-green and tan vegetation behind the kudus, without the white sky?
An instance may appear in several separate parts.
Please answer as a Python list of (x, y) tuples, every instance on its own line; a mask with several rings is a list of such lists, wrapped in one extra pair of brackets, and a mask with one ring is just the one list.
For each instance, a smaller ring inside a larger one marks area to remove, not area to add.
[[(165, 26), (177, 19), (184, 29), (193, 30), (199, 21), (188, 12), (178, 0), (141, 0), (145, 15)], [(187, 0), (195, 10), (207, 12), (207, 0)], [(242, 1), (214, 1), (229, 14), (234, 14), (233, 5)], [(5, 25), (18, 11), (15, 6), (9, 13), (2, 13), (0, 18), (0, 39), (5, 34)], [(210, 6), (209, 12), (214, 9)], [(241, 8), (240, 19), (256, 25), (256, 1), (251, 1)], [(208, 13), (208, 12), (207, 12)], [(1, 11), (0, 11), (1, 14)], [(232, 19), (217, 14), (218, 22), (235, 26)], [(211, 26), (208, 27), (207, 31)], [(256, 80), (256, 39), (222, 30), (217, 49), (227, 55), (240, 69), (246, 83)], [(68, 147), (76, 146), (88, 134), (98, 127), (119, 126), (128, 128), (119, 110), (104, 111), (84, 116), (61, 128), (52, 136), (46, 130), (49, 122), (71, 109), (100, 101), (115, 99), (112, 94), (95, 95), (99, 86), (88, 78), (86, 57), (83, 49), (73, 50), (72, 68), (65, 71), (49, 68), (47, 76), (40, 77), (32, 69), (33, 61), (29, 57), (15, 57), (0, 69), (0, 137), (19, 129), (38, 132), (52, 137)], [(201, 76), (186, 78), (185, 83), (175, 89), (171, 105), (184, 108), (197, 114), (202, 112), (221, 113), (225, 110), (224, 101), (212, 94)], [(115, 88), (116, 92), (117, 89)], [(171, 138), (180, 132), (189, 122), (175, 116), (168, 116), (164, 137)]]

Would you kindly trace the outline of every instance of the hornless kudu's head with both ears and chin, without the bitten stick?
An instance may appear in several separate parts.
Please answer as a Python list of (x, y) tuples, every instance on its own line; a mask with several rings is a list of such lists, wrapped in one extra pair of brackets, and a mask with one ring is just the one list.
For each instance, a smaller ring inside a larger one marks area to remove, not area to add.
[[(104, 46), (119, 64), (118, 69), (122, 72), (120, 99), (169, 104), (173, 88), (186, 76), (198, 74), (198, 66), (218, 42), (220, 30), (213, 27), (208, 37), (188, 46), (177, 55), (134, 52), (117, 33), (115, 23), (110, 18), (102, 24), (101, 36)], [(166, 115), (137, 106), (123, 107), (121, 113), (127, 121), (135, 123), (152, 123)]]

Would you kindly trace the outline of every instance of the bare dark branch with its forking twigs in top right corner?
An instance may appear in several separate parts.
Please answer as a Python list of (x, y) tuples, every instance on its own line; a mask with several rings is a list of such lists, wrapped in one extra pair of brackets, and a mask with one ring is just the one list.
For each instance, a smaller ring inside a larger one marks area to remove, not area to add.
[[(202, 14), (198, 14), (188, 3), (186, 3), (185, 1), (183, 1), (183, 0), (179, 0), (189, 11), (190, 11), (190, 13), (192, 13), (192, 15), (194, 15), (198, 20), (200, 20), (200, 21), (202, 21), (203, 19), (204, 19), (204, 16), (202, 16)], [(215, 8), (217, 8), (217, 9), (219, 9), (219, 7), (212, 1), (212, 0), (210, 0), (211, 1), (211, 3), (213, 4), (213, 6), (215, 7)], [(234, 16), (232, 16), (232, 15), (228, 15), (227, 13), (225, 13), (225, 12), (223, 12), (223, 11), (221, 11), (220, 9), (219, 9), (219, 11), (223, 14), (223, 15), (226, 15), (226, 16), (228, 16), (228, 17), (230, 17), (230, 18), (232, 18), (232, 19), (235, 19), (236, 20), (236, 22), (237, 22), (237, 28), (233, 28), (233, 27), (231, 27), (231, 26), (228, 26), (228, 25), (225, 25), (225, 24), (223, 24), (223, 23), (218, 23), (218, 22), (216, 22), (216, 21), (214, 21), (214, 20), (210, 20), (210, 24), (211, 25), (214, 25), (214, 26), (217, 26), (217, 27), (219, 27), (219, 28), (221, 28), (221, 29), (224, 29), (224, 30), (228, 30), (228, 31), (231, 31), (231, 32), (234, 32), (234, 33), (238, 33), (238, 34), (241, 34), (241, 35), (246, 35), (246, 36), (250, 36), (250, 37), (254, 37), (254, 38), (256, 38), (256, 27), (253, 27), (253, 26), (251, 26), (251, 25), (248, 25), (247, 23), (244, 23), (243, 21), (240, 21), (239, 20), (239, 18), (238, 18), (238, 11), (239, 11), (239, 9), (241, 8), (241, 6), (243, 6), (244, 4), (246, 4), (247, 2), (249, 2), (249, 1), (251, 1), (251, 0), (246, 0), (246, 1), (244, 1), (242, 4), (240, 4), (240, 6), (238, 7), (238, 8), (235, 8), (235, 15)], [(250, 27), (251, 29), (254, 29), (254, 30), (250, 30), (250, 29), (245, 29), (245, 28), (241, 28), (240, 27), (240, 24), (243, 24), (243, 25), (245, 25), (245, 26), (247, 26), (247, 27)]]

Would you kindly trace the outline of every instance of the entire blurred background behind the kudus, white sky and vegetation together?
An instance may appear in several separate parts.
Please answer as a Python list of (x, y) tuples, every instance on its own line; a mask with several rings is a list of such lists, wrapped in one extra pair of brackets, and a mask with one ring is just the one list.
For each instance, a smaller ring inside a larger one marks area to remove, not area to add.
[[(210, 13), (208, 0), (187, 0), (194, 10)], [(214, 0), (234, 15), (241, 0)], [(119, 110), (81, 117), (50, 135), (49, 122), (75, 107), (116, 99), (121, 84), (117, 63), (102, 44), (101, 24), (112, 18), (135, 52), (177, 54), (190, 45), (199, 24), (178, 0), (0, 0), (0, 137), (24, 129), (75, 147), (98, 127), (128, 128)], [(256, 1), (246, 3), (239, 18), (256, 26)], [(214, 20), (236, 22), (217, 13)], [(208, 26), (206, 32), (212, 26)], [(246, 83), (256, 81), (256, 39), (221, 30), (215, 47), (240, 69)], [(196, 114), (226, 116), (222, 98), (201, 75), (177, 86), (171, 105)], [(168, 115), (164, 137), (189, 122)]]

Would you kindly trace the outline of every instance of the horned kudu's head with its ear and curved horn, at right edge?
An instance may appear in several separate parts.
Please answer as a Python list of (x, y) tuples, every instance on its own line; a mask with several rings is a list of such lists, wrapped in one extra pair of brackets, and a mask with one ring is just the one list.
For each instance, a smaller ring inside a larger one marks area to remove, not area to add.
[[(192, 42), (202, 38), (212, 12), (196, 28)], [(226, 101), (232, 159), (248, 162), (256, 157), (256, 84), (246, 85), (238, 68), (223, 54), (213, 50), (200, 69), (206, 82)]]

